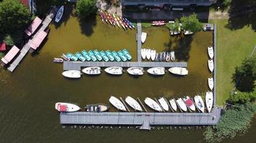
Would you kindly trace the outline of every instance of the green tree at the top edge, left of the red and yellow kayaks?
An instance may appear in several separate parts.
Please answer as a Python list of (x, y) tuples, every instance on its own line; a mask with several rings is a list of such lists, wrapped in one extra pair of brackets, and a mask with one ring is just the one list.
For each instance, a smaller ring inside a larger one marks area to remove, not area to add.
[(79, 17), (85, 18), (96, 12), (96, 0), (78, 0), (76, 2), (76, 13)]

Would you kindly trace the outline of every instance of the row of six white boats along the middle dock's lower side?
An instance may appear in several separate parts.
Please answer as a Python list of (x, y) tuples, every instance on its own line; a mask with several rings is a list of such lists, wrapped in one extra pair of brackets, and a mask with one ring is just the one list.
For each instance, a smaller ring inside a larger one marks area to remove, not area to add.
[[(86, 67), (83, 70), (83, 73), (85, 74), (91, 74), (91, 75), (96, 75), (96, 74), (101, 74), (101, 67), (99, 66), (90, 66)], [(121, 75), (123, 74), (123, 68), (119, 66), (111, 66), (107, 67), (104, 69), (106, 73), (108, 74), (113, 74), (113, 75)], [(177, 74), (177, 75), (187, 75), (188, 74), (188, 69), (183, 68), (183, 67), (172, 67), (168, 69), (170, 73), (172, 74)], [(127, 69), (128, 74), (135, 75), (135, 76), (141, 76), (145, 73), (144, 69), (142, 67), (130, 67)], [(164, 67), (152, 67), (150, 69), (147, 69), (147, 72), (152, 75), (164, 75), (165, 74), (165, 68)], [(81, 71), (78, 70), (68, 70), (68, 71), (63, 71), (63, 76), (72, 78), (72, 79), (78, 79), (81, 78)]]

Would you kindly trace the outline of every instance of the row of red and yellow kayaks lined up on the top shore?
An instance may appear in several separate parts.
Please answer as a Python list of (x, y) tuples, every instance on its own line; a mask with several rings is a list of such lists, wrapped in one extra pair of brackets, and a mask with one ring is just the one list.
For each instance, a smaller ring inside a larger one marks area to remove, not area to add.
[(115, 14), (109, 14), (102, 9), (99, 9), (99, 15), (101, 16), (101, 21), (106, 24), (111, 24), (114, 27), (122, 27), (124, 30), (127, 29), (135, 29), (134, 24), (130, 22), (128, 19), (120, 16), (116, 16)]

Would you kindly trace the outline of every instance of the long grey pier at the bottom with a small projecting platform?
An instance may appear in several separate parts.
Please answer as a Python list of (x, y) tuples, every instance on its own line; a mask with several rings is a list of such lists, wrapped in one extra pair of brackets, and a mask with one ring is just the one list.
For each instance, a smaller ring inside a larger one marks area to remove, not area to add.
[(150, 125), (212, 125), (220, 117), (218, 107), (211, 113), (70, 112), (60, 113), (60, 124), (132, 125), (150, 129)]

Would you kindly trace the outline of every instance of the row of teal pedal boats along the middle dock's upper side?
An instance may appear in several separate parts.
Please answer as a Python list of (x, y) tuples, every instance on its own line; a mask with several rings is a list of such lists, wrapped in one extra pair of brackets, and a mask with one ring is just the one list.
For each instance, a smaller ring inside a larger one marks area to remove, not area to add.
[[(132, 59), (132, 55), (129, 54), (127, 49), (122, 49), (120, 51), (98, 51), (90, 50), (86, 51), (83, 49), (81, 52), (76, 52), (76, 54), (63, 54), (61, 56), (65, 61), (129, 61)], [(55, 62), (63, 62), (63, 59), (55, 58)]]

